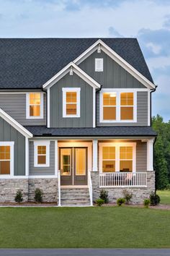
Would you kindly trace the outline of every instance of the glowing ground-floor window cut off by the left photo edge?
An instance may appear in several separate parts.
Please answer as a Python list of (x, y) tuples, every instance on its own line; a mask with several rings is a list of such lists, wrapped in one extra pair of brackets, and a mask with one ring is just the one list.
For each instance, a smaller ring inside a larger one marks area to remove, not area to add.
[(11, 153), (9, 145), (0, 146), (0, 174), (10, 174)]

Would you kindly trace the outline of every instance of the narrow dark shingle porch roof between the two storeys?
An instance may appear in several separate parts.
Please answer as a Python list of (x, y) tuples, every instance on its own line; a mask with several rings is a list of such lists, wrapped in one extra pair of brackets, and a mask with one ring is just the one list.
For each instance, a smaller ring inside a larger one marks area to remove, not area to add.
[(34, 136), (56, 137), (123, 137), (156, 136), (151, 127), (96, 127), (96, 128), (47, 128), (45, 126), (25, 126)]

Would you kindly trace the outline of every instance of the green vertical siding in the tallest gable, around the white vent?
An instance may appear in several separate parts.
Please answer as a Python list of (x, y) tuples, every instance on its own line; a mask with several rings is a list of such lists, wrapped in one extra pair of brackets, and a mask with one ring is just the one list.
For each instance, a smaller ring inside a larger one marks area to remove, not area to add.
[[(95, 72), (96, 58), (103, 59), (103, 72)], [(103, 51), (101, 51), (101, 54), (94, 51), (93, 54), (79, 64), (79, 67), (99, 82), (102, 88), (146, 88)]]

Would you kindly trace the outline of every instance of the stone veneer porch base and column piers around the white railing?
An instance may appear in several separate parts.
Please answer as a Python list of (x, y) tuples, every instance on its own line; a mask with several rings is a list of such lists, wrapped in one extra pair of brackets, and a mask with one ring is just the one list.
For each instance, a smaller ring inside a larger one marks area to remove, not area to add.
[[(93, 200), (99, 198), (99, 172), (91, 171), (91, 182), (93, 187)], [(132, 202), (143, 203), (143, 200), (148, 198), (151, 192), (155, 191), (155, 171), (147, 172), (147, 187), (132, 187), (132, 188), (123, 188), (123, 187), (114, 187), (114, 188), (104, 188), (109, 194), (109, 202), (116, 202), (117, 198), (123, 197), (123, 189), (128, 189), (128, 191), (133, 192)]]

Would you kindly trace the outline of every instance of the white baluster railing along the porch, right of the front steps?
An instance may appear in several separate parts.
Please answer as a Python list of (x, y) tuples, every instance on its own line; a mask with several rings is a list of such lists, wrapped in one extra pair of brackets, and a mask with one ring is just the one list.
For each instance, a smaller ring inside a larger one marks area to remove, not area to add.
[(146, 187), (146, 172), (100, 173), (99, 187)]

